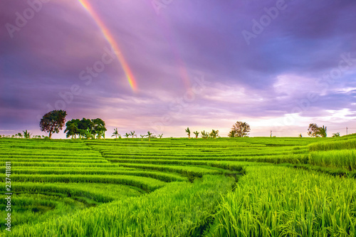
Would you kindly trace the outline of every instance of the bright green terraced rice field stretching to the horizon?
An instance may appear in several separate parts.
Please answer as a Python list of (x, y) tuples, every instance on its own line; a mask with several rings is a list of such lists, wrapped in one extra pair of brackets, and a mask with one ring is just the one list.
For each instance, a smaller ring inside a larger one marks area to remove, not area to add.
[(355, 135), (1, 138), (0, 236), (356, 236), (355, 149)]

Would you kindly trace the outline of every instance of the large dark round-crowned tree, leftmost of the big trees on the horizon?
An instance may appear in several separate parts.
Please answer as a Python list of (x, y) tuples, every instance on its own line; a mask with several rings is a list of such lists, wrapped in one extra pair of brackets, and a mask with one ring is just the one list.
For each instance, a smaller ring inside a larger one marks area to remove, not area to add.
[(51, 139), (54, 132), (58, 133), (59, 130), (62, 130), (66, 123), (66, 116), (67, 112), (64, 110), (53, 110), (46, 113), (40, 122), (41, 131), (49, 132), (48, 137)]

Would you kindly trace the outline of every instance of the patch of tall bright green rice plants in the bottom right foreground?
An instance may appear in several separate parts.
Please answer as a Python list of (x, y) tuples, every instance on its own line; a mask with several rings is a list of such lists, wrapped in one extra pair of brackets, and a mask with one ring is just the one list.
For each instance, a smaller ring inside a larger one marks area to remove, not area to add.
[(286, 167), (248, 167), (208, 236), (355, 236), (356, 181)]

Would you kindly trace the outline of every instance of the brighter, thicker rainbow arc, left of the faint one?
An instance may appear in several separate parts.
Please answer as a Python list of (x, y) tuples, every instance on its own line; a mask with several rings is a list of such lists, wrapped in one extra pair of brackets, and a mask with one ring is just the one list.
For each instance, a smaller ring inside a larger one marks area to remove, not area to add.
[(127, 64), (124, 56), (120, 51), (120, 47), (115, 42), (115, 38), (112, 37), (108, 27), (105, 26), (105, 23), (100, 19), (98, 14), (94, 11), (93, 7), (89, 4), (87, 0), (78, 0), (80, 4), (85, 8), (86, 11), (93, 17), (95, 23), (97, 23), (98, 27), (100, 28), (101, 32), (103, 33), (105, 39), (110, 43), (110, 46), (114, 49), (117, 58), (122, 66), (122, 69), (125, 72), (126, 78), (130, 83), (132, 90), (137, 90), (137, 84), (134, 75), (131, 72), (129, 65)]

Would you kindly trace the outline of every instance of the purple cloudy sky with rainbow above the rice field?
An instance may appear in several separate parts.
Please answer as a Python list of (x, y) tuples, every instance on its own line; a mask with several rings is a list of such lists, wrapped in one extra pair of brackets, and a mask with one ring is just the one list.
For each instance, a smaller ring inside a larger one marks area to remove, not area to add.
[[(0, 135), (102, 118), (107, 137), (356, 132), (356, 2), (0, 2)], [(53, 138), (64, 138), (61, 131)]]

